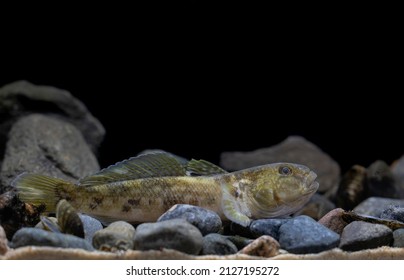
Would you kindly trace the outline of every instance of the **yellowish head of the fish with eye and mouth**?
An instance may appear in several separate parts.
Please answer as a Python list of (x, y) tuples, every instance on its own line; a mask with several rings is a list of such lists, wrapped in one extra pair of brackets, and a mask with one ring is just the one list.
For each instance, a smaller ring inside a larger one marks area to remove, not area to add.
[(263, 165), (252, 175), (247, 188), (249, 208), (254, 218), (292, 214), (302, 208), (317, 191), (316, 173), (294, 163)]

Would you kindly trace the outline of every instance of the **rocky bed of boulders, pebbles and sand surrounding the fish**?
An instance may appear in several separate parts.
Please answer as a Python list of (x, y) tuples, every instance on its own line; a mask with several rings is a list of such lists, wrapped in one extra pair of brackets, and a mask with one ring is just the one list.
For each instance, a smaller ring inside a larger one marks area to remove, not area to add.
[(86, 107), (66, 91), (16, 82), (0, 89), (0, 116), (0, 259), (404, 259), (404, 158), (341, 175), (320, 148), (292, 136), (221, 157), (229, 171), (279, 161), (313, 169), (320, 188), (291, 217), (241, 227), (177, 204), (156, 222), (106, 226), (67, 201), (43, 216), (11, 186), (22, 172), (75, 182), (99, 170), (104, 129)]

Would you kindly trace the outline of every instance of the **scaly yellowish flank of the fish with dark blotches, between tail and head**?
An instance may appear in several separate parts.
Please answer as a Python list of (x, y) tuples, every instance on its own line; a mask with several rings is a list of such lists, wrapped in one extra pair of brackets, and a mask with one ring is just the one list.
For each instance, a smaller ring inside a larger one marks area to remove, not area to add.
[(131, 223), (157, 220), (171, 206), (180, 203), (197, 205), (221, 214), (221, 189), (213, 178), (163, 178), (80, 188), (75, 192), (72, 205), (84, 213), (101, 217), (101, 220), (108, 213), (110, 219)]

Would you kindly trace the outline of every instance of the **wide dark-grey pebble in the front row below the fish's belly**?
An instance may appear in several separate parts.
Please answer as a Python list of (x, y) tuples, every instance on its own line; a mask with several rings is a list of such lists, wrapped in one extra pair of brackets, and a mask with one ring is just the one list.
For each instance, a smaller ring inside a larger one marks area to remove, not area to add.
[(197, 227), (183, 219), (157, 223), (143, 223), (136, 228), (136, 250), (174, 249), (198, 255), (202, 250), (203, 236)]

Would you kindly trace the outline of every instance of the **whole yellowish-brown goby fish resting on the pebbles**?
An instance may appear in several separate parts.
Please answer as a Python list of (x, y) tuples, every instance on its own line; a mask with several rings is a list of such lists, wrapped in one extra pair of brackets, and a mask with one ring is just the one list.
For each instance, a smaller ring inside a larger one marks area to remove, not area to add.
[(156, 221), (175, 204), (216, 211), (223, 220), (248, 226), (252, 219), (299, 210), (316, 192), (308, 167), (273, 163), (228, 173), (204, 161), (184, 163), (168, 153), (144, 154), (105, 168), (76, 184), (23, 173), (14, 181), (21, 200), (54, 212), (66, 199), (79, 212), (105, 224)]

